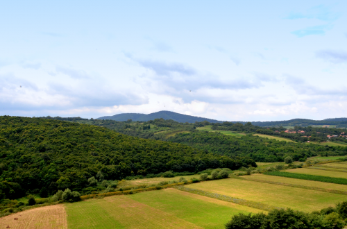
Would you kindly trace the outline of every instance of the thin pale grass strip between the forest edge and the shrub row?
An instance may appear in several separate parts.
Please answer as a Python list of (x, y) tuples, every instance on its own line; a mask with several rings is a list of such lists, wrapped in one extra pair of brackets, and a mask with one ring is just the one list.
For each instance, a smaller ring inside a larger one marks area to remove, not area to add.
[(126, 187), (126, 186), (137, 186), (137, 185), (156, 185), (162, 181), (171, 181), (171, 180), (179, 180), (180, 177), (185, 178), (186, 180), (190, 180), (191, 178), (199, 178), (200, 175), (189, 175), (189, 176), (176, 176), (174, 178), (144, 178), (137, 180), (121, 180), (118, 187)]

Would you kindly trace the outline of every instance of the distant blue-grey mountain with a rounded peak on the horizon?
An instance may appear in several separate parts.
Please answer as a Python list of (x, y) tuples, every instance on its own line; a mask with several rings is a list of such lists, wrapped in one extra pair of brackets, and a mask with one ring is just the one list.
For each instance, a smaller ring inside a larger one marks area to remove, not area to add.
[(104, 116), (98, 119), (110, 119), (115, 121), (127, 121), (128, 119), (132, 119), (132, 121), (149, 121), (149, 120), (161, 119), (161, 118), (165, 120), (172, 119), (174, 121), (183, 122), (183, 123), (185, 122), (194, 123), (196, 121), (209, 121), (211, 123), (223, 122), (223, 121), (207, 119), (203, 117), (196, 117), (196, 116), (187, 115), (187, 114), (179, 114), (179, 113), (171, 112), (167, 110), (162, 110), (162, 111), (154, 112), (151, 114), (137, 114), (137, 113), (115, 114), (113, 116)]

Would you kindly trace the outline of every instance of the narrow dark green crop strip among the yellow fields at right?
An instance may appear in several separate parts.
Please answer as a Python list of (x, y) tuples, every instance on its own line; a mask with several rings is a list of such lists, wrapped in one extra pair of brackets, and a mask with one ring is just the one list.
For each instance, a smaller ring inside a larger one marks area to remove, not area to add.
[(325, 183), (335, 183), (340, 185), (347, 185), (347, 179), (345, 178), (332, 178), (329, 176), (316, 176), (316, 175), (308, 175), (308, 174), (301, 174), (301, 173), (288, 173), (283, 171), (269, 171), (264, 173), (266, 175), (271, 176), (283, 176), (286, 178), (296, 178), (296, 179), (302, 179), (302, 180), (314, 180), (314, 181), (321, 181)]

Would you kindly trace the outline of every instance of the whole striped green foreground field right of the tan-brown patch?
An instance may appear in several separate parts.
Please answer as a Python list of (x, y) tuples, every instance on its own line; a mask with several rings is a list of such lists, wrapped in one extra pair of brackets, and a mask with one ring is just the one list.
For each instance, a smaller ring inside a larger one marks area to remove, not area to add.
[(177, 189), (66, 204), (69, 229), (223, 228), (233, 214), (262, 212)]

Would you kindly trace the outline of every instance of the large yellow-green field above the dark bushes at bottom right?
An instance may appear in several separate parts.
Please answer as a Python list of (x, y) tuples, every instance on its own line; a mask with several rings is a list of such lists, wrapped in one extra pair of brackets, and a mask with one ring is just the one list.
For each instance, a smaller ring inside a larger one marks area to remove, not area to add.
[(312, 212), (346, 200), (346, 195), (342, 194), (233, 178), (194, 183), (185, 185), (185, 187), (242, 198), (276, 207), (291, 207), (294, 210), (304, 212)]

